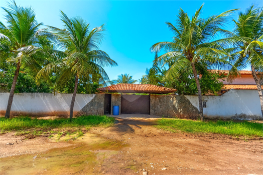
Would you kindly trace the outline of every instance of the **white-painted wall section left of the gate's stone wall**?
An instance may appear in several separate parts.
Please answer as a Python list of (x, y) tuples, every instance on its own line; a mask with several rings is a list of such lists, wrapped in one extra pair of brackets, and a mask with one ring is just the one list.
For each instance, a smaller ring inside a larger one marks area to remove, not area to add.
[[(95, 94), (76, 94), (73, 114), (94, 98)], [(0, 114), (5, 115), (9, 93), (0, 93)], [(72, 93), (15, 93), (11, 115), (67, 116)]]

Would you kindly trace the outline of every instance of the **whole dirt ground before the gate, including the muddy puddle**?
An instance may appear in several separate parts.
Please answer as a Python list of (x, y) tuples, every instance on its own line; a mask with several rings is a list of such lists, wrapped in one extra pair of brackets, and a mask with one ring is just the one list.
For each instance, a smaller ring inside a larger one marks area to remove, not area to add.
[(153, 127), (155, 122), (117, 118), (112, 127), (94, 127), (68, 142), (36, 137), (6, 145), (22, 136), (2, 134), (1, 155), (9, 156), (0, 159), (0, 174), (263, 173), (262, 140), (170, 133)]

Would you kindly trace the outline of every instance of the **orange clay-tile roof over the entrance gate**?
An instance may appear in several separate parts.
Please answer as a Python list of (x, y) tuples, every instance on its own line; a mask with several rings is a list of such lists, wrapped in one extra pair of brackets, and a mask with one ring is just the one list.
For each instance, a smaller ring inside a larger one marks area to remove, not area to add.
[(97, 88), (103, 92), (124, 92), (124, 93), (172, 93), (176, 89), (162, 87), (153, 84), (116, 84), (107, 87)]

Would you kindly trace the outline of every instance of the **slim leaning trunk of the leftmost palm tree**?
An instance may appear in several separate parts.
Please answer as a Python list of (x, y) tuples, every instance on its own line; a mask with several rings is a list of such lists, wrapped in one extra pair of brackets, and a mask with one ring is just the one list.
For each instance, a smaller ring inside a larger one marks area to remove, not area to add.
[(14, 79), (13, 79), (13, 83), (12, 83), (10, 94), (9, 94), (9, 98), (8, 98), (8, 106), (7, 106), (6, 115), (5, 115), (6, 118), (10, 117), (10, 111), (11, 111), (11, 106), (12, 106), (12, 102), (13, 102), (13, 98), (14, 98), (14, 93), (15, 93), (17, 80), (18, 80), (18, 74), (19, 74), (20, 65), (21, 65), (21, 63), (18, 62), (17, 63), (17, 70), (15, 72), (15, 76), (14, 76)]

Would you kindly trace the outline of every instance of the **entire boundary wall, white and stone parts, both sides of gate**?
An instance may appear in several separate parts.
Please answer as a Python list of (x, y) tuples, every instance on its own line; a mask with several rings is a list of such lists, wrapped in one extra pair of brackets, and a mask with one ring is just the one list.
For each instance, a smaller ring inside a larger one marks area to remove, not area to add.
[[(261, 119), (257, 90), (231, 89), (220, 96), (202, 96), (206, 101), (206, 118)], [(5, 115), (9, 93), (0, 93), (0, 114)], [(72, 94), (16, 93), (11, 115), (68, 116)], [(150, 113), (159, 116), (195, 118), (199, 104), (197, 95), (151, 95)], [(121, 110), (121, 95), (111, 94), (112, 106)], [(104, 94), (77, 94), (74, 115), (103, 114)]]

